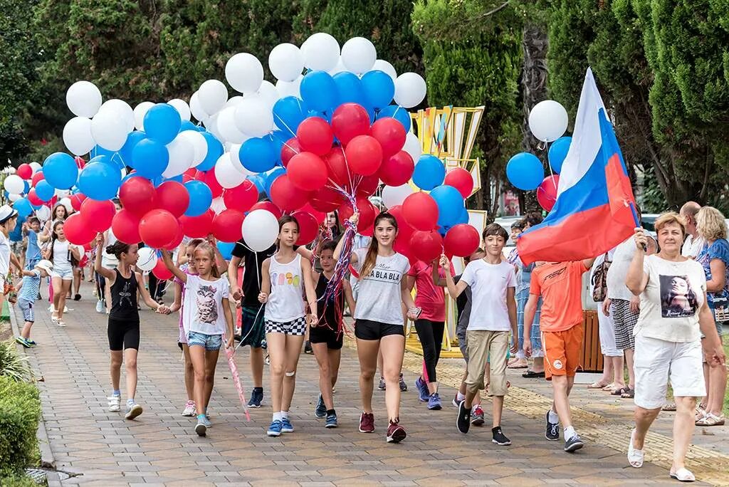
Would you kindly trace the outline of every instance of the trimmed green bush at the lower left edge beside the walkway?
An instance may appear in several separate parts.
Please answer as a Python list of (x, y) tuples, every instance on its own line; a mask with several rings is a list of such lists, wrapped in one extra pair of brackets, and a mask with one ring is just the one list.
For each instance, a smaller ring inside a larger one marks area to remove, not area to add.
[(0, 375), (0, 477), (19, 472), (36, 459), (40, 417), (36, 386)]

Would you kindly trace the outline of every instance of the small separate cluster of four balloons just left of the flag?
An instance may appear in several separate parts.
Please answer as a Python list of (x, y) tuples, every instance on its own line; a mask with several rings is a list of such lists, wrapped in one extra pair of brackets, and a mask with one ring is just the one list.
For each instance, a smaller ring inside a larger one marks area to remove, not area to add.
[(551, 174), (545, 177), (542, 161), (529, 152), (518, 153), (506, 166), (509, 182), (520, 190), (537, 190), (537, 201), (546, 211), (551, 211), (557, 200), (558, 175), (572, 143), (572, 137), (564, 136), (567, 123), (564, 106), (553, 100), (540, 101), (529, 112), (529, 130), (534, 137), (550, 144), (547, 158)]

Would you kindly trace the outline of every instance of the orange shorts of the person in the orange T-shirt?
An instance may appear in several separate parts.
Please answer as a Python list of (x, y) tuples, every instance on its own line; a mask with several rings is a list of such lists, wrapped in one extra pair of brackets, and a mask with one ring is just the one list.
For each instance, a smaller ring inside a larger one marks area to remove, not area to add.
[(552, 375), (574, 377), (580, 364), (584, 325), (574, 325), (561, 332), (542, 332), (542, 349), (545, 352), (545, 378)]

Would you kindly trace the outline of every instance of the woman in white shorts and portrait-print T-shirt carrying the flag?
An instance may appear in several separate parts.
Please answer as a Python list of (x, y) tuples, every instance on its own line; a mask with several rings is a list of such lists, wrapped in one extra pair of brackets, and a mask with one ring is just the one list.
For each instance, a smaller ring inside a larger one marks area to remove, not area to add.
[[(628, 443), (628, 462), (642, 467), (644, 442), (650, 425), (666, 400), (668, 381), (674, 392), (674, 461), (671, 478), (693, 482), (686, 468), (686, 452), (694, 429), (696, 397), (706, 394), (701, 377), (702, 359), (724, 367), (725, 354), (706, 303), (706, 276), (701, 264), (681, 255), (686, 223), (679, 214), (664, 213), (655, 221), (660, 252), (646, 256), (648, 237), (636, 228), (636, 253), (628, 268), (625, 285), (640, 296), (640, 314), (635, 335), (635, 422)], [(695, 295), (690, 309), (666, 308), (663, 297), (675, 292), (681, 278)], [(701, 334), (705, 335), (701, 340)], [(702, 354), (703, 348), (703, 354)]]

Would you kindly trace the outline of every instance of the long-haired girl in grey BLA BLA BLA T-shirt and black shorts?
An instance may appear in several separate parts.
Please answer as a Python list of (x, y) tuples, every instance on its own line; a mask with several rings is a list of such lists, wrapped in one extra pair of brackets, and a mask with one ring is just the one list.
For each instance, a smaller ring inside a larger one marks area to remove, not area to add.
[[(359, 214), (349, 221), (356, 225)], [(405, 354), (405, 328), (402, 320), (402, 303), (408, 307), (408, 318), (418, 319), (420, 308), (416, 308), (410, 296), (405, 278), (410, 270), (408, 257), (398, 254), (392, 248), (397, 237), (397, 221), (391, 214), (383, 212), (375, 218), (374, 238), (367, 249), (356, 249), (351, 254), (351, 263), (361, 263), (359, 272), (359, 295), (354, 311), (354, 335), (359, 355), (359, 391), (362, 395), (362, 415), (359, 417), (359, 431), (375, 431), (375, 416), (372, 410), (372, 391), (377, 355), (382, 349), (383, 375), (385, 377), (385, 402), (389, 426), (386, 441), (399, 443), (405, 440), (405, 428), (399, 425), (400, 388), (399, 374), (402, 369), (402, 355)], [(338, 260), (343, 240), (334, 252)]]

